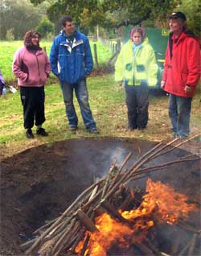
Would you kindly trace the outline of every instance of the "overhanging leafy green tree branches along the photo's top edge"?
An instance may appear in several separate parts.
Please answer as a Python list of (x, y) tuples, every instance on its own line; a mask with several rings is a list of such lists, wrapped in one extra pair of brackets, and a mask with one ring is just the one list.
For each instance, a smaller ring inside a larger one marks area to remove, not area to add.
[[(43, 0), (31, 0), (39, 4)], [(63, 14), (71, 14), (78, 24), (92, 27), (121, 27), (137, 25), (146, 19), (166, 19), (167, 13), (178, 6), (180, 0), (63, 0), (51, 1), (47, 10), (49, 19), (57, 22)], [(86, 16), (87, 14), (87, 16)], [(86, 24), (86, 18), (88, 23)]]

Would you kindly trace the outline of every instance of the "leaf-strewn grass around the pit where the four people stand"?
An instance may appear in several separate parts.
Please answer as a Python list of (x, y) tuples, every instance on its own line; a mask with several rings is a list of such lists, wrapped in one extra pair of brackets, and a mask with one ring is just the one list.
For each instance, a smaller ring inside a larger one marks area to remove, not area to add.
[[(146, 130), (126, 130), (127, 114), (125, 106), (125, 92), (117, 86), (113, 75), (88, 78), (89, 101), (93, 117), (100, 134), (89, 134), (80, 116), (80, 108), (75, 100), (79, 118), (79, 130), (68, 130), (68, 121), (65, 115), (63, 97), (59, 84), (46, 86), (46, 118), (44, 128), (47, 129), (47, 138), (35, 137), (30, 140), (25, 137), (23, 129), (23, 108), (19, 93), (7, 93), (0, 98), (0, 148), (2, 158), (14, 155), (27, 148), (36, 147), (44, 143), (56, 142), (71, 138), (87, 137), (119, 137), (141, 138), (150, 141), (170, 140), (170, 120), (168, 117), (168, 97), (150, 96), (150, 120)], [(191, 133), (197, 134), (200, 130), (200, 96), (195, 95), (191, 110)], [(34, 128), (35, 131), (35, 128)]]

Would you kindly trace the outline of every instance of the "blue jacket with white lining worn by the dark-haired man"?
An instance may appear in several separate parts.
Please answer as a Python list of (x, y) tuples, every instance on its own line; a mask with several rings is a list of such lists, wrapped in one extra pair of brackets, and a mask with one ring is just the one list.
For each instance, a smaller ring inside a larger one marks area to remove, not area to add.
[(86, 35), (75, 32), (71, 43), (65, 31), (57, 35), (51, 46), (51, 71), (62, 82), (76, 84), (92, 71), (93, 60), (90, 44)]

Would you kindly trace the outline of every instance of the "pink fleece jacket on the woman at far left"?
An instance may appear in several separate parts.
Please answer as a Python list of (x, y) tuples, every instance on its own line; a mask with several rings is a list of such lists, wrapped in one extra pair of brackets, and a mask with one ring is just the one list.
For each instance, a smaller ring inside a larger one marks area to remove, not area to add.
[(13, 72), (20, 86), (43, 86), (51, 72), (47, 54), (42, 49), (34, 53), (24, 46), (19, 48), (14, 54)]

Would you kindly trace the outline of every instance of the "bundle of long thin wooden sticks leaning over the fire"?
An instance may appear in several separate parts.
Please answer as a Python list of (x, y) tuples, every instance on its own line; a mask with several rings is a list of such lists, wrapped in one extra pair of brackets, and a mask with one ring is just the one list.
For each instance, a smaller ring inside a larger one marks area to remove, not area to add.
[[(135, 163), (129, 168), (125, 168), (125, 165), (132, 155), (131, 152), (126, 156), (121, 167), (117, 167), (117, 163), (114, 161), (113, 166), (103, 179), (85, 189), (58, 218), (35, 230), (36, 238), (21, 245), (22, 250), (25, 251), (26, 255), (36, 253), (41, 256), (76, 255), (76, 246), (83, 239), (85, 231), (94, 232), (97, 230), (92, 220), (98, 211), (105, 209), (119, 221), (126, 221), (111, 204), (113, 196), (117, 195), (122, 187), (126, 187), (133, 180), (144, 177), (147, 172), (166, 170), (165, 167), (174, 163), (199, 160), (198, 156), (189, 154), (166, 163), (151, 165), (151, 160), (174, 151), (175, 148), (198, 136), (200, 134), (183, 141), (175, 138), (166, 144), (159, 142), (146, 154), (139, 155)], [(90, 237), (85, 239), (85, 244), (88, 243), (88, 239)], [(80, 255), (84, 255), (84, 249)]]

